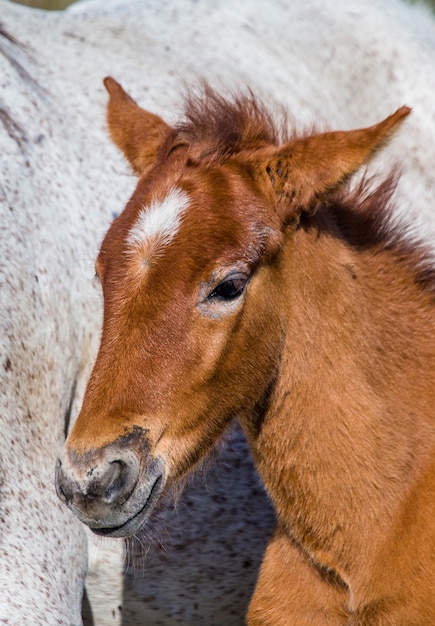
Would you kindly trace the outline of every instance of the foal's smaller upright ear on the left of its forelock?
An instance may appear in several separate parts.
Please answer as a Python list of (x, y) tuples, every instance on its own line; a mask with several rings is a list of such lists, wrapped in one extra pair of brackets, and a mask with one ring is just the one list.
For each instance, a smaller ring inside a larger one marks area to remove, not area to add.
[(113, 78), (104, 79), (109, 92), (107, 121), (113, 142), (141, 175), (156, 160), (157, 152), (171, 127), (154, 113), (149, 113), (131, 98)]

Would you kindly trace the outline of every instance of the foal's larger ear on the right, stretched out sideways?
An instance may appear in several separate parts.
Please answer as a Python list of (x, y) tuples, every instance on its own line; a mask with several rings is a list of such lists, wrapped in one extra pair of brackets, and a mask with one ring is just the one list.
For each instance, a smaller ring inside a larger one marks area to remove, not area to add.
[(251, 161), (254, 177), (269, 191), (272, 184), (280, 217), (290, 223), (315, 210), (317, 200), (367, 163), (410, 111), (403, 106), (369, 128), (312, 135), (262, 151)]

